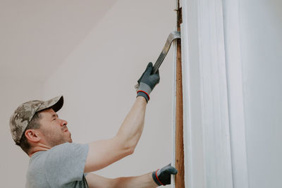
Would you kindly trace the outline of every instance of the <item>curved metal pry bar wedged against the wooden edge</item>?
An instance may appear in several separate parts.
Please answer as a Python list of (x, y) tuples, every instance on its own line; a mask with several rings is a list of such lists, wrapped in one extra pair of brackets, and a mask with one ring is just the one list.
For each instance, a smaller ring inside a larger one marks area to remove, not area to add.
[(157, 70), (161, 66), (161, 63), (163, 63), (164, 58), (166, 57), (166, 54), (168, 54), (168, 50), (171, 47), (171, 43), (175, 39), (180, 39), (180, 32), (173, 31), (171, 34), (168, 35), (168, 39), (166, 40), (166, 44), (164, 44), (164, 49), (161, 51), (161, 54), (159, 55), (159, 58), (157, 59), (156, 63), (154, 63), (153, 67), (153, 73), (157, 73)]

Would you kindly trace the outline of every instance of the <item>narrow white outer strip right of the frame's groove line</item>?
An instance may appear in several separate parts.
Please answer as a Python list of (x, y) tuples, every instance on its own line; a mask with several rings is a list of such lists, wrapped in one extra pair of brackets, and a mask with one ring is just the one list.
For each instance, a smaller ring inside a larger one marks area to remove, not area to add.
[(243, 100), (243, 63), (238, 6), (238, 1), (223, 1), (233, 187), (247, 188), (249, 186)]

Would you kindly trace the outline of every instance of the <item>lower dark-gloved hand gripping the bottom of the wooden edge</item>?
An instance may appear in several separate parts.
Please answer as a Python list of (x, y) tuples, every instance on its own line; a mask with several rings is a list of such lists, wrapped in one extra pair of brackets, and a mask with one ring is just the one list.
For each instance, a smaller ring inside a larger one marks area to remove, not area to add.
[(166, 165), (161, 170), (156, 170), (152, 173), (152, 177), (154, 182), (156, 182), (159, 186), (171, 184), (171, 175), (176, 175), (178, 171), (176, 168), (172, 167), (171, 164)]

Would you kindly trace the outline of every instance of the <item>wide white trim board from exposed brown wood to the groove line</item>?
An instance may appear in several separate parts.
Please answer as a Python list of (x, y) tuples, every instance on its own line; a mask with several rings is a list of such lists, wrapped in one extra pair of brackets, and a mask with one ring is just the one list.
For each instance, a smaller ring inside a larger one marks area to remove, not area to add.
[(222, 4), (183, 1), (183, 11), (185, 186), (233, 187)]

